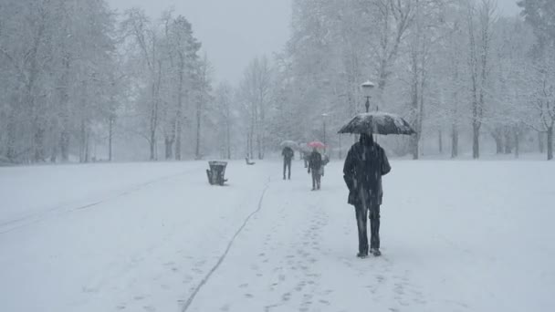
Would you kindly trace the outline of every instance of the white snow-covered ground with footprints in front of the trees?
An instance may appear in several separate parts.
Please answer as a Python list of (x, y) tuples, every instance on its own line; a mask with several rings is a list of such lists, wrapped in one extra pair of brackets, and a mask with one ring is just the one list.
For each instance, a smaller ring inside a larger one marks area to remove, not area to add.
[(331, 162), (0, 168), (0, 311), (553, 311), (555, 166), (392, 161), (380, 258)]

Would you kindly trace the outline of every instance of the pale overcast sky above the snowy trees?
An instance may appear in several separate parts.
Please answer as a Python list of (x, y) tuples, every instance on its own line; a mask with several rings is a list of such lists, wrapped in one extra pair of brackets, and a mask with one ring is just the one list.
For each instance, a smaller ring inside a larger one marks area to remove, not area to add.
[[(518, 14), (517, 0), (497, 0), (499, 11)], [(139, 6), (150, 16), (173, 6), (192, 24), (215, 68), (217, 80), (236, 84), (253, 57), (284, 47), (291, 0), (107, 0), (120, 11)]]

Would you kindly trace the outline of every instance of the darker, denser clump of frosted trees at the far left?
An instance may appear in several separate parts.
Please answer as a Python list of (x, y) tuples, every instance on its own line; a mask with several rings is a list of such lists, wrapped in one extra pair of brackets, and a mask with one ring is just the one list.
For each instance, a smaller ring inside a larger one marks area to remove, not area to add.
[(102, 1), (0, 4), (0, 155), (9, 161), (89, 158), (110, 120), (113, 16)]

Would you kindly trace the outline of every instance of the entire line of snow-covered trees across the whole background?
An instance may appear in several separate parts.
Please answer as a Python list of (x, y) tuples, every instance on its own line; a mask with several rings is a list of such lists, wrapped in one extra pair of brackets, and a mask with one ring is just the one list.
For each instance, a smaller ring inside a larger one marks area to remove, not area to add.
[(418, 132), (381, 138), (395, 154), (478, 158), (485, 147), (552, 159), (555, 3), (519, 5), (520, 17), (504, 17), (494, 0), (294, 0), (286, 47), (213, 88), (183, 16), (116, 16), (102, 0), (6, 0), (0, 157), (111, 160), (116, 149), (121, 160), (261, 159), (281, 140), (314, 139), (341, 157), (349, 144), (330, 134), (363, 109), (370, 78), (372, 109)]

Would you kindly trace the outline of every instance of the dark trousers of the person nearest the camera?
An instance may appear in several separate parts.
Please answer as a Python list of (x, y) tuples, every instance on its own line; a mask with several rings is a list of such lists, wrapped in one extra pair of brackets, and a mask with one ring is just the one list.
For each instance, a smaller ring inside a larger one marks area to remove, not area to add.
[[(359, 252), (368, 255), (368, 226), (370, 219), (370, 248), (380, 248), (380, 205), (371, 204), (369, 207), (363, 204), (354, 206), (359, 228)], [(370, 214), (370, 215), (369, 215)]]

